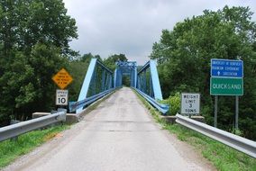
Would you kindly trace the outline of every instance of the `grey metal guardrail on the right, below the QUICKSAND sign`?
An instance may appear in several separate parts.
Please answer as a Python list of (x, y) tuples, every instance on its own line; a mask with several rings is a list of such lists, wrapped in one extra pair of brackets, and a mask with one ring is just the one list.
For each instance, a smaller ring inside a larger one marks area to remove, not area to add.
[(209, 126), (200, 121), (191, 120), (180, 114), (176, 114), (176, 122), (186, 126), (189, 129), (196, 130), (207, 137), (218, 140), (225, 145), (235, 148), (243, 153), (256, 158), (256, 142), (250, 139), (244, 139), (240, 136), (234, 135), (224, 130)]

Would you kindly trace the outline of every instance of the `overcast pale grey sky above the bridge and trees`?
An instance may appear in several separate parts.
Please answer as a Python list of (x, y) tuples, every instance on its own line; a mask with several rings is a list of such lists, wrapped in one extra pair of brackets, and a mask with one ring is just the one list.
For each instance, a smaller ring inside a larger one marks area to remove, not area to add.
[[(163, 29), (187, 17), (216, 11), (225, 4), (249, 6), (256, 12), (254, 0), (63, 0), (68, 14), (75, 18), (78, 40), (70, 46), (80, 54), (91, 52), (107, 58), (123, 53), (129, 60), (144, 64), (152, 44), (160, 40)], [(252, 20), (256, 21), (256, 14)]]

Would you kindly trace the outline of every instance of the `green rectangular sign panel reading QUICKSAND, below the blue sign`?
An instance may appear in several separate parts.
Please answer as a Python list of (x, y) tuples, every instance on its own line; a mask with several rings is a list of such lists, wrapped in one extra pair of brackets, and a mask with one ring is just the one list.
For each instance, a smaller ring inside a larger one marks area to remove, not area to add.
[(242, 78), (211, 77), (211, 95), (242, 95)]

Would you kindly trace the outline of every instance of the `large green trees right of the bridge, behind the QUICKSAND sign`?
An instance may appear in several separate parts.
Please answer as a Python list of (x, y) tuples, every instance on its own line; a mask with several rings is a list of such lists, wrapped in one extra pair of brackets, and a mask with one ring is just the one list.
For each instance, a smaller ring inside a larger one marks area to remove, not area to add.
[[(159, 63), (164, 97), (177, 92), (201, 94), (201, 111), (213, 124), (214, 98), (210, 95), (210, 59), (242, 59), (244, 94), (240, 97), (239, 127), (244, 136), (256, 139), (256, 24), (248, 7), (225, 6), (217, 12), (177, 23), (173, 31), (163, 30), (153, 44), (151, 58)], [(218, 126), (233, 130), (234, 97), (219, 97)]]

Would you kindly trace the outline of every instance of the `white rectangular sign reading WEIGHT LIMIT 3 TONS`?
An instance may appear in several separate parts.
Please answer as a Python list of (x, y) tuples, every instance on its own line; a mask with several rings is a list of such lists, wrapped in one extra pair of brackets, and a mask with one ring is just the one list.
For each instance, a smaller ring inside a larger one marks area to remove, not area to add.
[(200, 113), (200, 94), (181, 94), (181, 114)]

